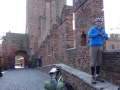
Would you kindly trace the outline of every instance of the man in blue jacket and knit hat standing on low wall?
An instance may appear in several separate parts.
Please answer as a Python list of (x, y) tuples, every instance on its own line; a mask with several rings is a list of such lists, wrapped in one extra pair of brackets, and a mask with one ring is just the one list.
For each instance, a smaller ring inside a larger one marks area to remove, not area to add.
[[(102, 51), (104, 39), (108, 39), (108, 35), (105, 32), (105, 29), (102, 28), (103, 18), (98, 17), (95, 19), (95, 26), (91, 27), (88, 31), (89, 42), (89, 52), (90, 52), (90, 67), (92, 79), (91, 83), (96, 84), (96, 81), (104, 82), (103, 79), (100, 78), (100, 66), (102, 64)], [(96, 76), (95, 76), (96, 69)]]

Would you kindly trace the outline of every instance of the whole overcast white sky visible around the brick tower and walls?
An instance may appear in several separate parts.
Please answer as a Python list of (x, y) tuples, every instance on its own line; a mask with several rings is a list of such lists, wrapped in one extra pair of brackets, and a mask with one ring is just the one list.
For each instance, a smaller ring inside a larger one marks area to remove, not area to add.
[[(120, 0), (105, 1), (105, 27), (120, 26)], [(67, 0), (72, 5), (72, 0)], [(6, 32), (25, 33), (26, 0), (0, 0), (0, 36)], [(115, 31), (116, 32), (116, 31)]]

